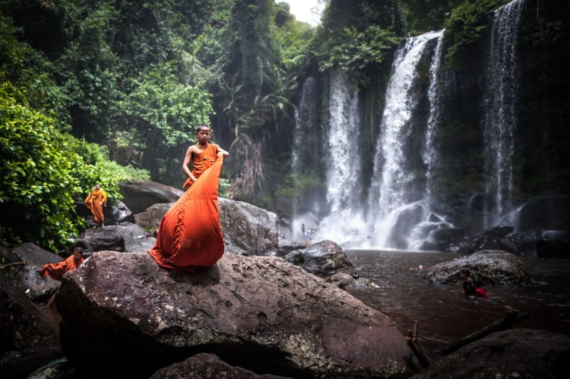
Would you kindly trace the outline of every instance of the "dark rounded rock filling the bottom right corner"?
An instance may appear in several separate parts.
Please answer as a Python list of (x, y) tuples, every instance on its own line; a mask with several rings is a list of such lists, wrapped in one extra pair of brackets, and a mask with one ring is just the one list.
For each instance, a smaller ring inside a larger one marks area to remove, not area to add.
[(570, 378), (570, 338), (511, 329), (470, 343), (410, 379)]

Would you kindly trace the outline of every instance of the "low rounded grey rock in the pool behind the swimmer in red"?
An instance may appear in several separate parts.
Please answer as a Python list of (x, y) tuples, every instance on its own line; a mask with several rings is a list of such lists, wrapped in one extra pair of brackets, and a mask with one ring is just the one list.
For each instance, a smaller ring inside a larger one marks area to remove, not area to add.
[(532, 280), (522, 261), (505, 251), (485, 250), (470, 256), (442, 262), (426, 269), (423, 278), (430, 283), (458, 284), (462, 281), (462, 269), (469, 269), (472, 277), (487, 284), (525, 286)]

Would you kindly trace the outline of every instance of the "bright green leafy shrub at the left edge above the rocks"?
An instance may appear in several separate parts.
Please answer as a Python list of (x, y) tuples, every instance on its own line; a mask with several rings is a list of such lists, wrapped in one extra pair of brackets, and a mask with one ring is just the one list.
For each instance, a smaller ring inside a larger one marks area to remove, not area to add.
[(11, 83), (0, 86), (0, 162), (0, 244), (5, 246), (31, 241), (51, 250), (62, 247), (80, 226), (75, 199), (100, 182), (110, 202), (116, 201), (118, 181), (132, 179), (132, 170), (105, 159), (97, 145), (61, 133), (56, 121), (31, 108), (24, 91)]

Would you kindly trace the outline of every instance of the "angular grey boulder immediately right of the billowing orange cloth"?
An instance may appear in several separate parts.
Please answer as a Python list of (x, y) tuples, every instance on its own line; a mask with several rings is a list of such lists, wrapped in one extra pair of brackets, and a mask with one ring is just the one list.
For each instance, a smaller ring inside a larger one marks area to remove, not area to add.
[[(218, 200), (224, 244), (240, 254), (274, 255), (277, 250), (277, 215), (247, 202)], [(232, 251), (233, 252), (233, 251)]]

